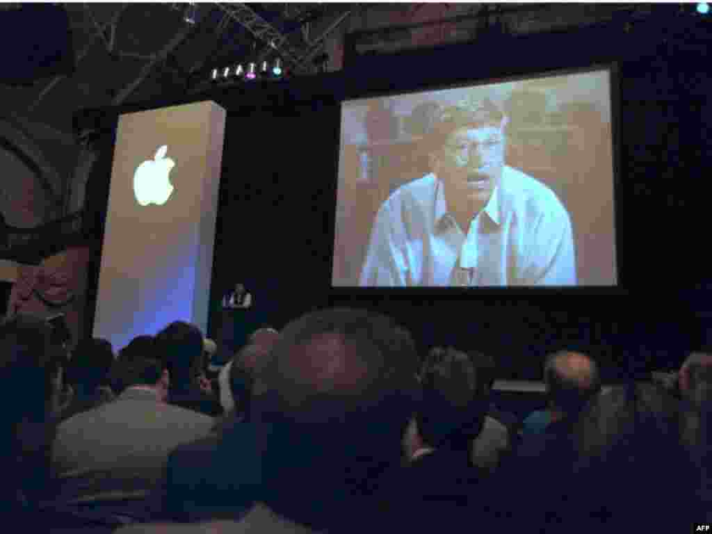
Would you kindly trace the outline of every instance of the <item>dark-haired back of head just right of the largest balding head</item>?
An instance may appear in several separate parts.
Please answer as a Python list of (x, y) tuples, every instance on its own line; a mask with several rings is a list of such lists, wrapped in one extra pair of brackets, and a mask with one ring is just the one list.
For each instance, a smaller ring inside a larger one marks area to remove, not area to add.
[(431, 350), (421, 375), (419, 434), (428, 446), (466, 449), (482, 430), (486, 382), (470, 355), (452, 347)]

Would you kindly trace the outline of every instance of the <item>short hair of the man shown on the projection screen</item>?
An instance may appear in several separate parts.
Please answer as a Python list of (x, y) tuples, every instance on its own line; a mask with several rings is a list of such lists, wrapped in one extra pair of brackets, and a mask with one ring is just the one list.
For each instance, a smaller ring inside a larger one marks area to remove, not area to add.
[(504, 112), (490, 98), (466, 98), (444, 108), (436, 116), (428, 145), (431, 151), (440, 150), (448, 137), (459, 128), (499, 126)]

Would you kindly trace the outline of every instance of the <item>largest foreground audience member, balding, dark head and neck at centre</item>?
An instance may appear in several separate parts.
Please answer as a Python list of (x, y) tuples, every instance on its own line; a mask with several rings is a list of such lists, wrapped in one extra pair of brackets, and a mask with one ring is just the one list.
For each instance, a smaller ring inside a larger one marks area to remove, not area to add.
[[(399, 440), (417, 406), (414, 343), (392, 320), (325, 310), (283, 330), (258, 372), (253, 413), (262, 483), (225, 532), (389, 530), (375, 493), (399, 464)], [(402, 523), (402, 517), (397, 519)], [(161, 527), (125, 533), (161, 532)]]

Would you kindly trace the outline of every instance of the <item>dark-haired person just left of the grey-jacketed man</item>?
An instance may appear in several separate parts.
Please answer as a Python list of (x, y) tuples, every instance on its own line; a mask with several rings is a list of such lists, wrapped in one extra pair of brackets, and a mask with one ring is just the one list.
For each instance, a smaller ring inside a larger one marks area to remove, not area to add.
[(114, 351), (107, 340), (88, 338), (78, 342), (66, 372), (74, 392), (73, 398), (62, 412), (62, 419), (69, 419), (115, 398), (109, 387), (113, 364)]

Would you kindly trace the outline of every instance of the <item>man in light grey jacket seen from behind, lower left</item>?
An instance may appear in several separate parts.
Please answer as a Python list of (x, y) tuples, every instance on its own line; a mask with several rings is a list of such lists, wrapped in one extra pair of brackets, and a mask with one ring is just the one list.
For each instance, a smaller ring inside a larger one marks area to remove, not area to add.
[(122, 362), (127, 389), (114, 402), (67, 419), (53, 448), (53, 506), (77, 513), (147, 520), (172, 449), (208, 434), (214, 420), (167, 404), (169, 372), (163, 362)]

